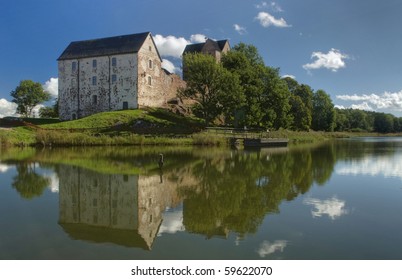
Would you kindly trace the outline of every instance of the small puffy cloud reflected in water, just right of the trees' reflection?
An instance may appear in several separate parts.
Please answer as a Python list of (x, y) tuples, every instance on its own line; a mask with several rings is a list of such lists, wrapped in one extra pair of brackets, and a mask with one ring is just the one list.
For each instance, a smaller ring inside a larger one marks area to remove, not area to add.
[(331, 220), (335, 220), (348, 213), (348, 211), (345, 209), (346, 202), (336, 197), (326, 200), (306, 198), (303, 203), (314, 206), (314, 209), (311, 210), (313, 217), (322, 217), (327, 215), (331, 218)]

